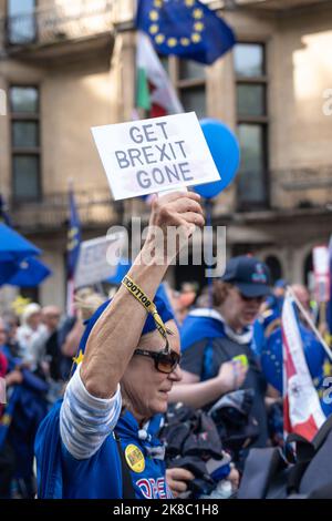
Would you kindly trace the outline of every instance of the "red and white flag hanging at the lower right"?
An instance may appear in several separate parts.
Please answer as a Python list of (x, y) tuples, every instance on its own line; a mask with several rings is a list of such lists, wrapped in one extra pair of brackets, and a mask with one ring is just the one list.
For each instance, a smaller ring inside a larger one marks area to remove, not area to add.
[(281, 315), (283, 430), (286, 435), (295, 432), (311, 441), (326, 417), (307, 365), (294, 306), (295, 303), (288, 292)]

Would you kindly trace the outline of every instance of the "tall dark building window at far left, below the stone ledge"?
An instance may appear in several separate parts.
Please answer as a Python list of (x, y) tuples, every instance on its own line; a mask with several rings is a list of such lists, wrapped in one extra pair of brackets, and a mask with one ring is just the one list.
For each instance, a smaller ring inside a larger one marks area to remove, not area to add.
[(39, 89), (10, 88), (12, 194), (14, 201), (37, 201), (40, 186)]

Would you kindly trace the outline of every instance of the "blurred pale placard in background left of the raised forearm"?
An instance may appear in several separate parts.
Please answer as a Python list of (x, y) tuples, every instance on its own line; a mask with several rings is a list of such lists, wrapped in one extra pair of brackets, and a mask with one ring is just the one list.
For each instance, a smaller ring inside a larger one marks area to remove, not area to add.
[(81, 243), (75, 287), (97, 284), (112, 277), (116, 272), (123, 244), (124, 234), (121, 233)]

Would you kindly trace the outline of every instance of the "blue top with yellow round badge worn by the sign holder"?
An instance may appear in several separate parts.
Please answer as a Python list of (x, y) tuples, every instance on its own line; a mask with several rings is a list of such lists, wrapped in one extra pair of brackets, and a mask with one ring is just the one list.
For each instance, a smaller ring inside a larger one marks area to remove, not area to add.
[[(122, 467), (113, 432), (93, 457), (76, 460), (69, 453), (60, 438), (61, 403), (62, 400), (59, 400), (53, 406), (37, 435), (38, 497), (121, 499)], [(128, 467), (137, 499), (172, 497), (165, 480), (165, 462), (159, 459), (163, 456), (163, 448), (155, 436), (159, 425), (159, 418), (156, 417), (149, 422), (147, 431), (139, 430), (134, 417), (125, 412), (115, 428), (125, 459), (129, 461), (132, 469), (135, 469), (129, 470)]]

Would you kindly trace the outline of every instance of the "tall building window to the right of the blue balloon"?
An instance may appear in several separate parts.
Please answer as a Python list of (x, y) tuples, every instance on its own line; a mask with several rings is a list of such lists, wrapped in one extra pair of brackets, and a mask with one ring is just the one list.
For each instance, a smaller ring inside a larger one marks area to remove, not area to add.
[(269, 202), (266, 48), (262, 43), (238, 43), (234, 57), (241, 147), (238, 210), (246, 211), (266, 207)]

